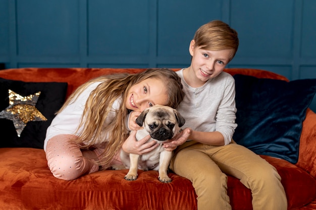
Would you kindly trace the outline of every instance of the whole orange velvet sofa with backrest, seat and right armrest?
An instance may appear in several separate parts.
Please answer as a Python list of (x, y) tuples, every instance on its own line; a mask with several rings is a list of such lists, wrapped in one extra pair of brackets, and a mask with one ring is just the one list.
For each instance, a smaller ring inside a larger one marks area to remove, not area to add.
[[(16, 68), (0, 71), (0, 78), (24, 82), (64, 82), (68, 84), (65, 93), (68, 97), (91, 78), (140, 71), (144, 69)], [(227, 68), (225, 71), (231, 75), (288, 81), (283, 76), (258, 69)], [(267, 155), (261, 157), (278, 170), (287, 194), (288, 209), (310, 210), (316, 209), (316, 114), (309, 108), (302, 124), (297, 163)], [(160, 182), (157, 171), (139, 170), (135, 181), (125, 180), (126, 173), (127, 170), (104, 170), (64, 181), (50, 173), (43, 149), (0, 148), (0, 209), (197, 208), (197, 196), (191, 182), (172, 171), (169, 173), (173, 180), (171, 183)], [(251, 191), (238, 179), (228, 176), (227, 192), (233, 209), (252, 209)]]

